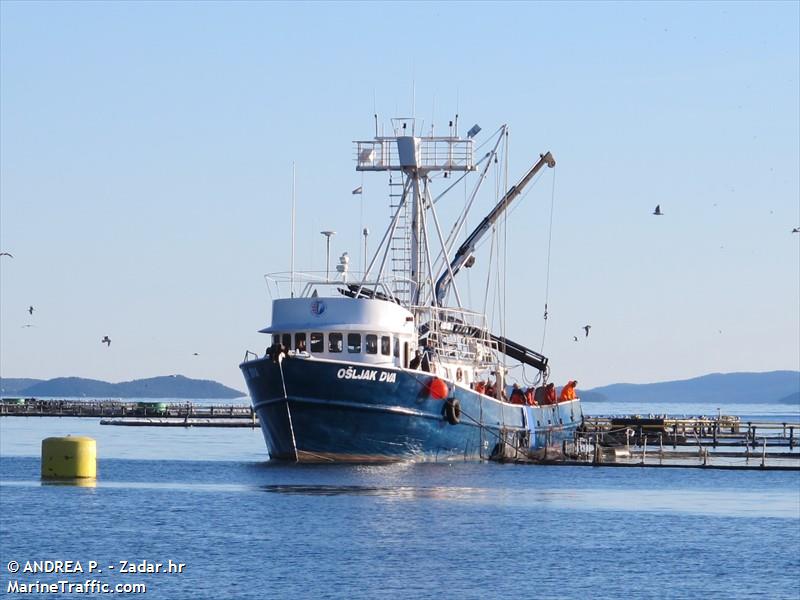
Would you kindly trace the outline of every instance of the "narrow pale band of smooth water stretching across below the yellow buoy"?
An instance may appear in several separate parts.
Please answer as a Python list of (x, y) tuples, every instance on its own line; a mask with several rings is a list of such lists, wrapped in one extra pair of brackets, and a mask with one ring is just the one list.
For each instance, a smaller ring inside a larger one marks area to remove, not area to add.
[[(790, 476), (794, 477), (795, 474)], [(272, 478), (273, 481), (277, 478)], [(281, 477), (281, 479), (284, 479)], [(388, 480), (388, 481), (387, 481)], [(308, 481), (308, 480), (306, 480)], [(484, 506), (494, 509), (523, 511), (630, 512), (650, 514), (686, 514), (718, 517), (776, 518), (800, 521), (800, 494), (796, 488), (746, 491), (728, 489), (661, 489), (661, 488), (558, 488), (497, 487), (464, 485), (419, 485), (394, 483), (391, 477), (373, 477), (369, 483), (333, 482), (306, 483), (284, 479), (283, 482), (262, 481), (203, 482), (183, 481), (40, 481), (0, 480), (0, 488), (14, 487), (84, 487), (95, 494), (108, 490), (149, 490), (185, 494), (272, 494), (318, 498), (361, 497), (384, 503), (445, 502), (463, 506)], [(551, 484), (552, 486), (552, 484)], [(65, 490), (66, 491), (66, 490)]]

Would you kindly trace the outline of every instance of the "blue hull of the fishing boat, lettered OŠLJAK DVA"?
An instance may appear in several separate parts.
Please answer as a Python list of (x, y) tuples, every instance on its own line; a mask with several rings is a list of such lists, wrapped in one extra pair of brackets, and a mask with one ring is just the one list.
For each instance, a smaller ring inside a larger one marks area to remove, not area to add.
[[(421, 371), (305, 358), (240, 365), (270, 457), (300, 462), (390, 462), (549, 456), (572, 440), (578, 400), (554, 406), (499, 402), (448, 382), (430, 393)], [(446, 403), (461, 414), (448, 420)]]

